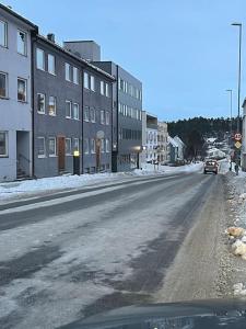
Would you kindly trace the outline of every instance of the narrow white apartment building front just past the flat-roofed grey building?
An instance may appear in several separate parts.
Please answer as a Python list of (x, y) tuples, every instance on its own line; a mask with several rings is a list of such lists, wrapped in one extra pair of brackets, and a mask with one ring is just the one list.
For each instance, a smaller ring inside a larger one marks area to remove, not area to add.
[(157, 161), (157, 157), (159, 157), (157, 116), (143, 111), (142, 123), (143, 123), (143, 127), (142, 127), (143, 157), (145, 157), (145, 162), (155, 162)]

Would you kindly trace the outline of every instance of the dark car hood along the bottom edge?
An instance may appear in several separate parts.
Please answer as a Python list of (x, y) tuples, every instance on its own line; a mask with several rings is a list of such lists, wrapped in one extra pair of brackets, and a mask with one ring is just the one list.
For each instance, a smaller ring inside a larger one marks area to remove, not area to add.
[(209, 299), (134, 305), (78, 320), (66, 329), (246, 328), (246, 302)]

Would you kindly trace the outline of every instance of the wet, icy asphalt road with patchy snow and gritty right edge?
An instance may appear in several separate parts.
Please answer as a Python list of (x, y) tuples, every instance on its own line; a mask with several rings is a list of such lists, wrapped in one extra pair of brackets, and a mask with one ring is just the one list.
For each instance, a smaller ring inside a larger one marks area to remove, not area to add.
[(1, 207), (0, 328), (214, 297), (221, 218), (222, 175), (201, 172)]

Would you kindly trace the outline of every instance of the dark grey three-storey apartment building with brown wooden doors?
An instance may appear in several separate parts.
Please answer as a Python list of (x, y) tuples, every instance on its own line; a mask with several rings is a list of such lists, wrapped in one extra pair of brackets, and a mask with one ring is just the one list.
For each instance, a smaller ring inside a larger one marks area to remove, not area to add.
[(55, 43), (54, 34), (34, 39), (34, 173), (110, 170), (112, 83), (114, 78), (80, 54)]

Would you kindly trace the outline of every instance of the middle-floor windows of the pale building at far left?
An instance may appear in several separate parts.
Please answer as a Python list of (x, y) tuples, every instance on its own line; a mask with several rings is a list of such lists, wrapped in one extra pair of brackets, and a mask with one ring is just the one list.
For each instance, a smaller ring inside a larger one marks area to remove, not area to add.
[[(9, 98), (9, 75), (0, 72), (0, 98)], [(17, 78), (17, 101), (27, 101), (27, 80)]]

